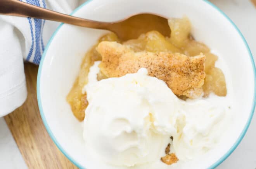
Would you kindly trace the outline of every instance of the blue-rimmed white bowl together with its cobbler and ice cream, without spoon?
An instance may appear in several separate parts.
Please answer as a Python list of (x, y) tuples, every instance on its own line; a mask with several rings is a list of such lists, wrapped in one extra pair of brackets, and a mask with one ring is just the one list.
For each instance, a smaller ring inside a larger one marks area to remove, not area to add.
[(150, 31), (124, 42), (64, 24), (48, 44), (38, 76), (40, 111), (79, 167), (215, 167), (249, 125), (255, 67), (234, 25), (208, 2), (155, 5), (90, 1), (74, 15), (114, 21), (154, 12), (170, 18), (170, 37)]

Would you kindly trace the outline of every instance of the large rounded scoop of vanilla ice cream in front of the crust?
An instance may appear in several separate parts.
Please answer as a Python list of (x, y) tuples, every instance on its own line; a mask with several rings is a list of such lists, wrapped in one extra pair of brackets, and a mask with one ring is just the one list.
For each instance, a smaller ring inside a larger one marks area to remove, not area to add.
[(142, 68), (88, 85), (86, 92), (84, 139), (93, 151), (115, 166), (159, 160), (176, 133), (179, 105), (164, 81)]

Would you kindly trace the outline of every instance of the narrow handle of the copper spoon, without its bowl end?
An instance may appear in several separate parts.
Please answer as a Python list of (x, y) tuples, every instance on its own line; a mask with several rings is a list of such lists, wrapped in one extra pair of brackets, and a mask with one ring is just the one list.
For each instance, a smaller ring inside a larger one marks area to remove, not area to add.
[(0, 14), (20, 17), (34, 17), (87, 28), (107, 29), (109, 22), (98, 22), (79, 17), (73, 17), (52, 10), (30, 5), (19, 0), (0, 0)]

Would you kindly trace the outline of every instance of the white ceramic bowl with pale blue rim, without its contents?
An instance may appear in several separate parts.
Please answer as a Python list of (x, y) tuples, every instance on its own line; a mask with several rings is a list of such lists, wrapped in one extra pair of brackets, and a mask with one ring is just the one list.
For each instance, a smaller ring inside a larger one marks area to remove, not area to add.
[[(240, 143), (254, 112), (255, 66), (244, 37), (220, 9), (203, 0), (89, 0), (72, 15), (116, 21), (138, 12), (166, 17), (188, 16), (196, 40), (208, 45), (227, 64), (234, 90), (234, 120), (228, 134), (213, 151), (187, 163), (190, 168), (218, 166)], [(45, 48), (38, 71), (38, 105), (45, 127), (59, 149), (80, 168), (100, 166), (85, 155), (81, 122), (73, 116), (66, 96), (78, 75), (85, 52), (106, 32), (61, 24)]]

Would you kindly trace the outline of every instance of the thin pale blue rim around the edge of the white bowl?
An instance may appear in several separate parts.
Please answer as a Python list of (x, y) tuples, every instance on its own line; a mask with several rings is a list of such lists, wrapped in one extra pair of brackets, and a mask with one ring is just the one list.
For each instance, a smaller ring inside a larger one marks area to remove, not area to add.
[[(81, 7), (85, 6), (86, 4), (90, 3), (92, 0), (88, 0), (85, 3), (83, 3), (82, 5), (80, 5), (78, 8), (76, 8), (70, 15), (73, 15), (74, 13), (76, 13), (79, 9), (81, 9)], [(254, 60), (253, 60), (253, 55), (251, 53), (251, 50), (244, 38), (244, 36), (242, 35), (242, 33), (240, 32), (240, 30), (237, 28), (237, 26), (234, 24), (234, 22), (223, 12), (221, 11), (218, 7), (216, 7), (215, 5), (213, 5), (211, 2), (209, 2), (208, 0), (204, 0), (204, 2), (208, 3), (209, 5), (211, 5), (213, 8), (215, 8), (216, 10), (218, 10), (233, 26), (234, 28), (237, 30), (237, 32), (240, 34), (242, 40), (244, 41), (244, 44), (247, 47), (248, 53), (250, 55), (250, 59), (251, 59), (251, 64), (253, 66), (253, 72), (254, 72), (254, 84), (256, 84), (256, 68), (255, 68), (255, 64), (254, 64)], [(61, 145), (59, 144), (59, 142), (56, 140), (55, 136), (53, 135), (52, 131), (50, 130), (48, 123), (45, 119), (45, 115), (43, 113), (43, 107), (42, 107), (42, 103), (41, 103), (41, 95), (40, 95), (40, 78), (41, 78), (41, 71), (42, 71), (42, 66), (43, 66), (43, 61), (45, 59), (45, 55), (47, 53), (47, 50), (52, 42), (52, 40), (54, 39), (55, 35), (57, 34), (57, 32), (59, 31), (59, 29), (62, 27), (63, 23), (59, 25), (59, 27), (55, 30), (54, 34), (51, 36), (47, 46), (45, 47), (45, 50), (43, 52), (42, 55), (42, 59), (39, 65), (39, 69), (38, 69), (38, 76), (37, 76), (37, 100), (38, 100), (38, 106), (39, 106), (39, 110), (40, 110), (40, 114), (43, 120), (43, 124), (45, 125), (45, 128), (47, 129), (47, 132), (49, 133), (50, 137), (52, 138), (52, 140), (54, 141), (54, 143), (57, 145), (57, 147), (61, 150), (61, 152), (71, 161), (73, 162), (73, 164), (75, 164), (77, 167), (79, 168), (84, 168), (83, 166), (81, 166), (81, 164), (79, 164), (76, 160), (74, 160), (65, 150), (63, 147), (61, 147)], [(256, 105), (256, 87), (254, 86), (254, 98), (253, 98), (254, 102), (252, 105), (252, 109), (251, 109), (251, 114), (246, 122), (246, 126), (244, 127), (244, 129), (242, 130), (242, 133), (240, 133), (239, 138), (235, 141), (234, 145), (228, 150), (228, 152), (226, 152), (218, 161), (216, 161), (214, 164), (212, 164), (209, 168), (215, 168), (218, 165), (221, 164), (221, 162), (223, 162), (225, 159), (227, 159), (227, 157), (235, 150), (235, 148), (237, 148), (237, 146), (239, 145), (239, 143), (241, 142), (242, 138), (244, 137), (244, 135), (246, 134), (247, 129), (249, 128), (249, 125), (251, 123), (251, 120), (253, 118), (253, 114), (254, 114), (254, 109), (255, 109), (255, 105)]]

